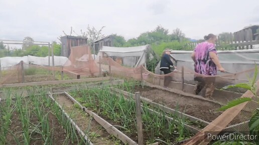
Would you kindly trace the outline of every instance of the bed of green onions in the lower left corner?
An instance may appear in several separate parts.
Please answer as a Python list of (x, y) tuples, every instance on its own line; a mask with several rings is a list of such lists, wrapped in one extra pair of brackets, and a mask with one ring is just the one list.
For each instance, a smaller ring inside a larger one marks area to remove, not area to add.
[(88, 144), (45, 92), (1, 101), (0, 144)]

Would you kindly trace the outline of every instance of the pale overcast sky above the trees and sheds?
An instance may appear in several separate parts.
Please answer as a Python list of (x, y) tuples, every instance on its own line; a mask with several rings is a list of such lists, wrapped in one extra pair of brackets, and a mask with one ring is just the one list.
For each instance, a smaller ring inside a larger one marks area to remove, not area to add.
[(186, 37), (202, 39), (209, 33), (235, 32), (259, 25), (258, 0), (118, 0), (47, 1), (0, 0), (0, 39), (57, 41), (70, 27), (80, 33), (87, 25), (105, 35), (131, 39), (158, 25)]

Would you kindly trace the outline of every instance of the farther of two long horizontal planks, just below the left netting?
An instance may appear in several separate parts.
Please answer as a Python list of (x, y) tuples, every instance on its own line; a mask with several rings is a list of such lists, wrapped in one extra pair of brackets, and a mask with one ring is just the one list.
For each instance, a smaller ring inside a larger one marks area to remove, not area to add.
[(0, 85), (0, 88), (40, 86), (40, 85), (58, 85), (58, 84), (67, 84), (67, 83), (80, 83), (80, 82), (106, 81), (106, 80), (111, 80), (111, 77), (58, 80), (58, 81), (43, 81), (43, 82), (30, 82), (30, 83), (17, 83), (17, 84), (2, 84), (2, 85)]

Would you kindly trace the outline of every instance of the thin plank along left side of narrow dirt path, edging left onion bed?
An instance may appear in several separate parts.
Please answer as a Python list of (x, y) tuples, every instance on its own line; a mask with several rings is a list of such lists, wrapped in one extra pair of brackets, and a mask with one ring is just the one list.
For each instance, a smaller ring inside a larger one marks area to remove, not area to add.
[(59, 106), (59, 108), (61, 109), (61, 111), (65, 114), (66, 118), (70, 121), (70, 123), (76, 128), (77, 132), (81, 135), (84, 136), (84, 139), (87, 141), (87, 143), (89, 143), (90, 145), (93, 145), (93, 143), (90, 141), (90, 139), (88, 139), (88, 137), (86, 136), (86, 134), (84, 134), (84, 132), (80, 129), (80, 127), (70, 118), (70, 116), (63, 110), (63, 108), (61, 107), (61, 105), (54, 99), (54, 97), (52, 96), (52, 94), (49, 92), (49, 97)]

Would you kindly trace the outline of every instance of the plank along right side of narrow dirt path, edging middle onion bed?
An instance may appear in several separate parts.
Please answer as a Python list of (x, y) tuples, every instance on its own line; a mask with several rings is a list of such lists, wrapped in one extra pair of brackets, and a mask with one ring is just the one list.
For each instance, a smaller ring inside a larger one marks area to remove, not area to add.
[(114, 135), (115, 137), (119, 138), (123, 143), (128, 143), (130, 145), (136, 145), (138, 144), (134, 140), (132, 140), (130, 137), (122, 133), (120, 130), (118, 130), (116, 127), (111, 125), (109, 122), (95, 114), (94, 112), (88, 110), (86, 107), (82, 106), (77, 100), (75, 100), (71, 95), (69, 95), (67, 92), (65, 92), (66, 96), (71, 99), (74, 103), (78, 104), (80, 108), (91, 115), (96, 122), (98, 122), (105, 130), (109, 133)]

